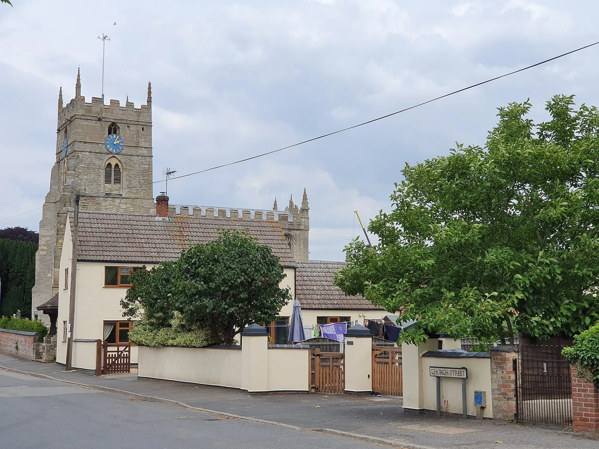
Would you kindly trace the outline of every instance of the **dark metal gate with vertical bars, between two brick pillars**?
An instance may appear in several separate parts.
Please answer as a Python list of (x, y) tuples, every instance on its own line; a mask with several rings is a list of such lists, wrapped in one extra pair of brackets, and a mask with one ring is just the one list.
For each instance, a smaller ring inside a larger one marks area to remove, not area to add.
[(516, 417), (522, 423), (572, 424), (570, 365), (561, 345), (522, 344), (514, 360)]

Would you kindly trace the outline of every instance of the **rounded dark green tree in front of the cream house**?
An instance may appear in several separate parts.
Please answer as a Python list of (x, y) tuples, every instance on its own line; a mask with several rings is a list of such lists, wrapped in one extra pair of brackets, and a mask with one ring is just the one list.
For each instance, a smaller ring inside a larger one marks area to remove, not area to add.
[(232, 344), (247, 324), (274, 320), (291, 299), (281, 289), (285, 278), (268, 245), (235, 230), (216, 241), (192, 245), (176, 263), (138, 270), (121, 302), (125, 313), (168, 327), (173, 318), (183, 330), (210, 330), (214, 341)]

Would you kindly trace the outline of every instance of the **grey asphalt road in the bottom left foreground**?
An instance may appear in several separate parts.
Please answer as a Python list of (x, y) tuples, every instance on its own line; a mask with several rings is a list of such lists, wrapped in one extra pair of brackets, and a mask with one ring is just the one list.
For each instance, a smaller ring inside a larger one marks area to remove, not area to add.
[(0, 371), (0, 449), (374, 447)]

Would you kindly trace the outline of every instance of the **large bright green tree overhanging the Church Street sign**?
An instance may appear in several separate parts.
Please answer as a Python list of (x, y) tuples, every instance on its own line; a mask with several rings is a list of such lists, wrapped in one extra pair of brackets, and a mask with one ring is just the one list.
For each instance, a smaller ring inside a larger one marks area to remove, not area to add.
[(485, 148), (406, 164), (392, 212), (368, 227), (379, 244), (348, 245), (335, 283), (418, 320), (404, 341), (587, 329), (599, 318), (599, 113), (573, 104), (553, 97), (535, 125), (528, 101), (512, 103)]

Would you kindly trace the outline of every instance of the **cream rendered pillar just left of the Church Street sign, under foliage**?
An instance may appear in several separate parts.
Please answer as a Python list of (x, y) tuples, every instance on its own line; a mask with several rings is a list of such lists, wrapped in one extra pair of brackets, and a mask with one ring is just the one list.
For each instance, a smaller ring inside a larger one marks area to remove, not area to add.
[[(422, 385), (422, 354), (438, 350), (438, 339), (429, 338), (418, 346), (401, 344), (401, 364), (403, 365), (403, 390), (406, 412), (424, 411), (424, 393)], [(428, 372), (426, 373), (428, 376)]]

